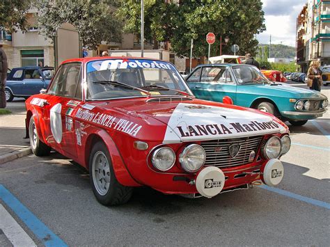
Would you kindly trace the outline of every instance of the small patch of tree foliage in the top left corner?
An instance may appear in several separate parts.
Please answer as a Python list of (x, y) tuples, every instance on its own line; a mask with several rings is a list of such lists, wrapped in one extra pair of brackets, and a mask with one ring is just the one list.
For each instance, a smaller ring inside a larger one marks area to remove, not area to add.
[(26, 30), (26, 11), (30, 8), (29, 0), (1, 0), (0, 26), (7, 31)]

